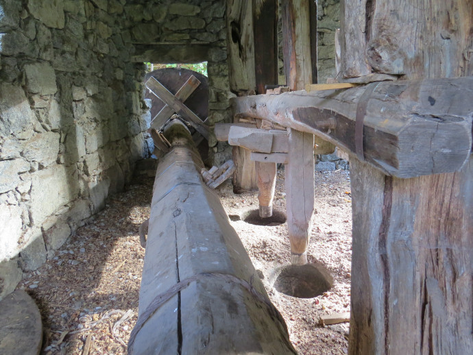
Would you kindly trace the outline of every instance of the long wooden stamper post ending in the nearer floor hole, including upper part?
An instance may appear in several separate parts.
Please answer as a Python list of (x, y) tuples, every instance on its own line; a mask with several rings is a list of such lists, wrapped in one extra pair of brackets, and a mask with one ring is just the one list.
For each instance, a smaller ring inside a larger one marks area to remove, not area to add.
[[(284, 72), (291, 90), (312, 84), (309, 0), (282, 0)], [(289, 130), (289, 163), (286, 164), (287, 229), (291, 263), (307, 262), (314, 210), (314, 136)]]

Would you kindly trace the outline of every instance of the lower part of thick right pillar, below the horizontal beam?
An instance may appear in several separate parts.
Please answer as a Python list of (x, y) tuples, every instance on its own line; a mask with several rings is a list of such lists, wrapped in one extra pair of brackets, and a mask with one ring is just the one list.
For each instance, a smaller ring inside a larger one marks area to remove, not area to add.
[(350, 171), (350, 354), (468, 354), (473, 157), (457, 173), (407, 180), (356, 158)]

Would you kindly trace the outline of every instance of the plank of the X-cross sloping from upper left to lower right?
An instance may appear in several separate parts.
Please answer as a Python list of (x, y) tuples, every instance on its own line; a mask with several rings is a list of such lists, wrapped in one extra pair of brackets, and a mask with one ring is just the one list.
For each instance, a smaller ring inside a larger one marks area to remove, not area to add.
[(187, 106), (184, 105), (181, 101), (175, 98), (174, 95), (169, 93), (169, 90), (162, 86), (158, 80), (154, 77), (150, 77), (145, 83), (147, 88), (154, 93), (157, 97), (165, 101), (169, 107), (171, 107), (177, 114), (180, 115), (183, 119), (186, 119), (194, 128), (202, 134), (208, 140), (208, 127), (202, 123), (202, 120), (199, 117), (189, 110)]

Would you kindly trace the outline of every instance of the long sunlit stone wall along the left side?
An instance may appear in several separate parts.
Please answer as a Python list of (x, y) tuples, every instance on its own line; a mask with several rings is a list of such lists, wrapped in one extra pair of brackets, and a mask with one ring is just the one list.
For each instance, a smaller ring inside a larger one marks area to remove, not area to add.
[(147, 155), (124, 5), (0, 0), (0, 298)]

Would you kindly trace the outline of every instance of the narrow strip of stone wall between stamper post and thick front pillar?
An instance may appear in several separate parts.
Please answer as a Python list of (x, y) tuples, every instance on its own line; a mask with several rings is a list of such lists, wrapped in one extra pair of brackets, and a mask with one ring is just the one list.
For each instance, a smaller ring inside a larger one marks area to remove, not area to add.
[(340, 28), (340, 0), (317, 1), (318, 82), (335, 77), (335, 30)]

